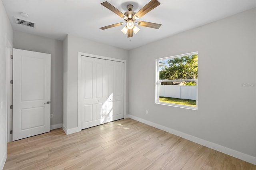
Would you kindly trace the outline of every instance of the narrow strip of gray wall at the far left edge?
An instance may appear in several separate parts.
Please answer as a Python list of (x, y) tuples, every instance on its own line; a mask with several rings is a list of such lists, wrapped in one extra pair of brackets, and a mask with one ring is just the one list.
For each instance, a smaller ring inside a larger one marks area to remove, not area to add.
[(0, 169), (6, 160), (7, 138), (7, 93), (6, 88), (6, 41), (13, 43), (13, 30), (7, 17), (2, 0), (0, 0)]

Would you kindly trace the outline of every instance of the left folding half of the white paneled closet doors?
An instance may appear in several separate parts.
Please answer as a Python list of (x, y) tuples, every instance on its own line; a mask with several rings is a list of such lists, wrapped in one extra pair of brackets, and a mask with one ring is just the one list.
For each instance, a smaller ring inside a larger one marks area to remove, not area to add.
[[(100, 125), (106, 115), (106, 72), (105, 60), (92, 57), (81, 59), (82, 105), (81, 129)], [(104, 98), (105, 97), (105, 98)]]

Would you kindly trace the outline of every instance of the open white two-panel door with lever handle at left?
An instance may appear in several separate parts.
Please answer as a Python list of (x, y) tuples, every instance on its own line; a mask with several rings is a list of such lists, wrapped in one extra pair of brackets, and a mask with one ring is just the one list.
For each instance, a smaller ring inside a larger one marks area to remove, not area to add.
[(50, 54), (13, 49), (13, 140), (50, 131), (50, 66)]

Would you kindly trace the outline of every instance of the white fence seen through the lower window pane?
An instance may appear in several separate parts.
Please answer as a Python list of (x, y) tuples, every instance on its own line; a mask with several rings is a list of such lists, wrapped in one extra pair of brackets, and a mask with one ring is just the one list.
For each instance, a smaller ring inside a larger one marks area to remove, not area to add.
[(196, 86), (159, 85), (159, 96), (196, 100)]

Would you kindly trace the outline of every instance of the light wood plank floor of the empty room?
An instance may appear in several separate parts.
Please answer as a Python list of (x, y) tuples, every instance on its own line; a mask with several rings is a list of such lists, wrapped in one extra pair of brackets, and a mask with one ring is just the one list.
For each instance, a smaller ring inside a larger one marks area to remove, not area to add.
[(240, 159), (121, 119), (66, 135), (62, 128), (10, 142), (4, 170), (256, 170)]

